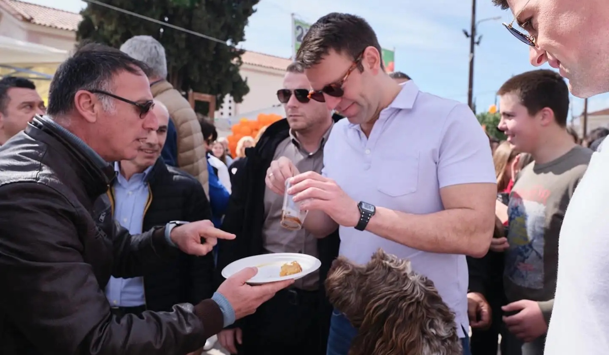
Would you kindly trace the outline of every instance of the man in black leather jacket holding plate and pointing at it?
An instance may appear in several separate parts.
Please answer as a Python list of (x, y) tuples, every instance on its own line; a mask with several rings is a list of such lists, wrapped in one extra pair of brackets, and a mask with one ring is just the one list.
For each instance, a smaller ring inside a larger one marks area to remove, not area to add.
[(116, 49), (83, 46), (55, 73), (51, 118), (0, 148), (0, 354), (185, 354), (289, 286), (250, 287), (247, 268), (194, 306), (111, 314), (111, 275), (141, 276), (177, 248), (205, 255), (234, 237), (208, 220), (133, 236), (114, 222), (107, 161), (135, 158), (158, 129), (146, 71)]

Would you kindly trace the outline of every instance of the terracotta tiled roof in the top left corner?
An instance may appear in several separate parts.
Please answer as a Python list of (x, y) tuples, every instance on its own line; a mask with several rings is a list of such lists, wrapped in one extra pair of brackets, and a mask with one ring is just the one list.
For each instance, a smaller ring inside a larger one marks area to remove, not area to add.
[(56, 29), (76, 31), (82, 19), (79, 13), (53, 9), (17, 0), (0, 0), (8, 4), (24, 21)]

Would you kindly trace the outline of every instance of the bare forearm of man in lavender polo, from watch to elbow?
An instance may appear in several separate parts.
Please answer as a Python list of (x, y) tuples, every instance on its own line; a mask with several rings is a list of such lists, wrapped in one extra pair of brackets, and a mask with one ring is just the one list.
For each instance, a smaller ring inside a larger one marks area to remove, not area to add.
[(408, 214), (378, 207), (366, 230), (418, 250), (480, 258), (490, 246), (493, 219), (467, 208)]

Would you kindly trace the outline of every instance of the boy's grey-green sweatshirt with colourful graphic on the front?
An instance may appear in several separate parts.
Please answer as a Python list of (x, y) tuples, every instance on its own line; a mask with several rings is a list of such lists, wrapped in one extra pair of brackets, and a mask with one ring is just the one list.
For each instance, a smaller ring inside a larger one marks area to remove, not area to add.
[[(558, 234), (591, 155), (590, 149), (577, 146), (549, 163), (529, 164), (519, 174), (508, 205), (510, 247), (504, 269), (508, 301), (554, 299)], [(549, 317), (552, 303), (544, 306), (542, 311)]]

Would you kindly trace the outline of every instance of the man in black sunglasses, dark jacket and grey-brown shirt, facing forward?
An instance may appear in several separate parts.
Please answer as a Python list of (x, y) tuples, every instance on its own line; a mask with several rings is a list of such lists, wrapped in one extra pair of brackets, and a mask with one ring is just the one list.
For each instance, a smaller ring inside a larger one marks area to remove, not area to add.
[(308, 231), (281, 227), (283, 195), (266, 189), (264, 179), (271, 161), (282, 156), (301, 172), (320, 172), (323, 147), (339, 116), (322, 102), (308, 97), (311, 84), (298, 63), (287, 67), (277, 98), (286, 119), (267, 128), (255, 147), (248, 150), (244, 166), (234, 176), (223, 228), (235, 234), (233, 241), (219, 243), (217, 270), (228, 263), (260, 253), (305, 253), (322, 262), (319, 272), (298, 280), (294, 287), (278, 292), (269, 302), (242, 321), (220, 332), (220, 343), (239, 355), (323, 354), (328, 339), (332, 308), (323, 282), (338, 254), (339, 237), (333, 233), (317, 239)]

